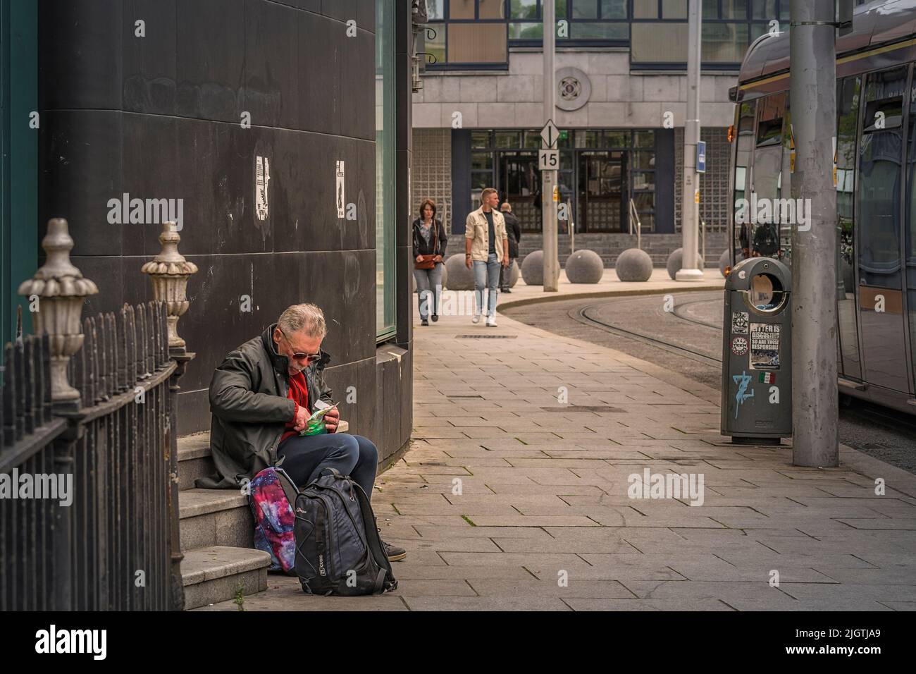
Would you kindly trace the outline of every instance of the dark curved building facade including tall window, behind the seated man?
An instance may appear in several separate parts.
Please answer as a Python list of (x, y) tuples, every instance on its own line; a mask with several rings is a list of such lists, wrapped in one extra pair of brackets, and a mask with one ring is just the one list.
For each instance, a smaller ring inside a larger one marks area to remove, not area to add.
[(179, 324), (196, 353), (180, 434), (209, 427), (207, 388), (230, 350), (289, 304), (313, 302), (328, 319), (326, 375), (343, 418), (383, 455), (402, 447), (412, 418), (410, 241), (396, 225), (410, 201), (409, 0), (12, 5), (4, 74), (21, 79), (25, 62), (37, 79), (11, 89), (4, 77), (14, 105), (0, 121), (18, 163), (4, 164), (3, 341), (50, 217), (69, 221), (71, 260), (99, 286), (83, 315), (152, 299), (140, 268), (166, 218), (113, 218), (112, 203), (166, 200), (180, 204), (180, 252), (200, 268)]

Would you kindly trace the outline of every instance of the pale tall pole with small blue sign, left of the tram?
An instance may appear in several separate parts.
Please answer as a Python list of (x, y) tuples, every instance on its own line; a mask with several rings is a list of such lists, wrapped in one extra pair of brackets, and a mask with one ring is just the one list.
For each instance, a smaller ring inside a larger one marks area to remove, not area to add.
[(684, 119), (684, 176), (681, 209), (683, 265), (677, 281), (703, 281), (700, 270), (700, 174), (696, 172), (696, 143), (700, 139), (700, 0), (690, 0), (687, 30), (687, 118)]

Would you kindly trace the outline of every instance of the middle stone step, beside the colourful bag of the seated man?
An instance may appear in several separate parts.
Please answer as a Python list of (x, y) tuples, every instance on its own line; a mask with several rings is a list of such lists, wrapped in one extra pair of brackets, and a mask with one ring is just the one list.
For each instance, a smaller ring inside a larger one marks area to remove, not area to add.
[(179, 492), (181, 549), (254, 547), (255, 521), (248, 497), (235, 489), (187, 489)]

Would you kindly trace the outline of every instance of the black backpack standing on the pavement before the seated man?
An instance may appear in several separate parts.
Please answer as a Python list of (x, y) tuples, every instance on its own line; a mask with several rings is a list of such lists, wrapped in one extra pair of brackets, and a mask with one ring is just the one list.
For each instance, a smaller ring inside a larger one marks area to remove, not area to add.
[(307, 594), (381, 594), (398, 581), (362, 487), (333, 468), (296, 496), (296, 575)]

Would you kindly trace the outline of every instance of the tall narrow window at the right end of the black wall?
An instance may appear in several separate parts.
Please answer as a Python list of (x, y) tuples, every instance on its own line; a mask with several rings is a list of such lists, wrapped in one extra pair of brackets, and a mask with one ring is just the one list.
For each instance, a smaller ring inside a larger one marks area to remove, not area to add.
[(376, 337), (395, 334), (395, 4), (376, 0)]

